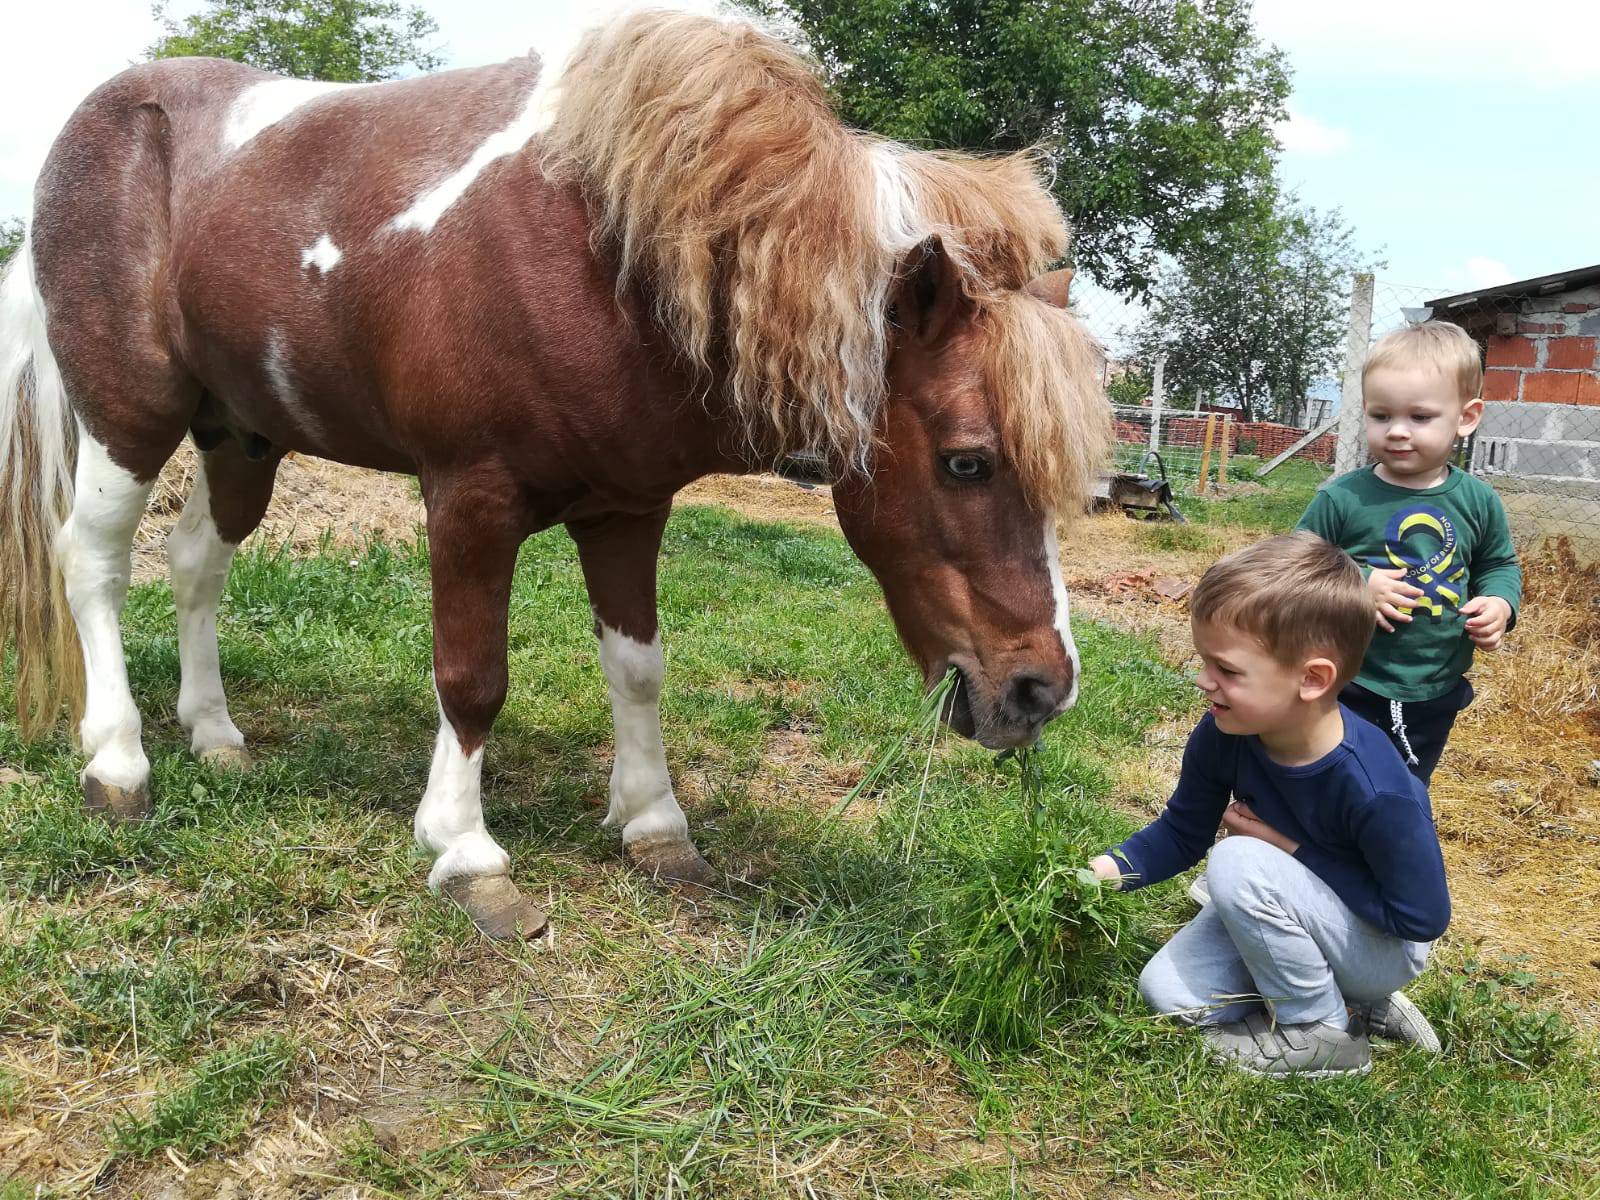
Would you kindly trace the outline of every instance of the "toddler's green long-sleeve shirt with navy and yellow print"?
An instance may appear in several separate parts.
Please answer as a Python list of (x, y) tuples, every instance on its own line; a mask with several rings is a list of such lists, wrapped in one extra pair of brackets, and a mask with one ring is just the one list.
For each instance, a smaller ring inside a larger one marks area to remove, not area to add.
[[(1299, 528), (1342, 547), (1363, 573), (1405, 566), (1424, 595), (1410, 624), (1379, 629), (1355, 682), (1402, 702), (1443, 696), (1472, 666), (1461, 605), (1498, 595), (1515, 622), (1522, 568), (1494, 488), (1456, 467), (1437, 488), (1400, 488), (1373, 467), (1341, 475), (1317, 493)], [(1509, 627), (1509, 626), (1507, 626)]]

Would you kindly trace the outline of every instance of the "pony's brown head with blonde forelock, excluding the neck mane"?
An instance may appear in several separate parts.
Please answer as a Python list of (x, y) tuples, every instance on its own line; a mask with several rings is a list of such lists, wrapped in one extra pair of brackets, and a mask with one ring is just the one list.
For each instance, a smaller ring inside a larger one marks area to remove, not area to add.
[(834, 486), (925, 683), (957, 670), (950, 726), (992, 749), (1032, 742), (1078, 691), (1056, 514), (1085, 502), (1104, 405), (1067, 278), (978, 302), (938, 240), (918, 248), (872, 467)]

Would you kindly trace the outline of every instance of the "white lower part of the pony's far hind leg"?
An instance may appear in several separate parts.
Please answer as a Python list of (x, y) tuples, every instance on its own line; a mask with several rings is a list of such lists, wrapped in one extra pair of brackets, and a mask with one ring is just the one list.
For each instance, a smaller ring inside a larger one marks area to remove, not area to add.
[(178, 608), (178, 720), (189, 730), (189, 749), (195, 755), (245, 744), (245, 734), (227, 714), (216, 651), (216, 608), (237, 549), (216, 531), (211, 488), (205, 470), (200, 470), (182, 515), (166, 536), (173, 603)]

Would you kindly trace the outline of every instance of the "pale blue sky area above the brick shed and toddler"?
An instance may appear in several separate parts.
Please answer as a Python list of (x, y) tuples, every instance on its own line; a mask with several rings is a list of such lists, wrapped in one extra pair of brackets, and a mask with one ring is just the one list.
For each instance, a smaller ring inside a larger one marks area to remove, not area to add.
[(1282, 176), (1382, 277), (1469, 290), (1600, 262), (1600, 5), (1261, 0), (1294, 72)]

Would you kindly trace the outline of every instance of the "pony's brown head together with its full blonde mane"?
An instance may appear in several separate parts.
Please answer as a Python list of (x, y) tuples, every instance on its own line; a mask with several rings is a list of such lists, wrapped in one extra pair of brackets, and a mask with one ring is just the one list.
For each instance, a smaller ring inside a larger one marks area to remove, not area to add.
[(1109, 440), (1096, 349), (1035, 278), (1066, 226), (1032, 155), (910, 150), (838, 123), (742, 21), (627, 14), (568, 61), (546, 170), (586, 189), (618, 290), (752, 466), (837, 470), (835, 509), (950, 723), (1021, 746), (1072, 704), (1056, 517)]

